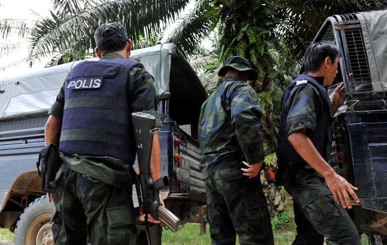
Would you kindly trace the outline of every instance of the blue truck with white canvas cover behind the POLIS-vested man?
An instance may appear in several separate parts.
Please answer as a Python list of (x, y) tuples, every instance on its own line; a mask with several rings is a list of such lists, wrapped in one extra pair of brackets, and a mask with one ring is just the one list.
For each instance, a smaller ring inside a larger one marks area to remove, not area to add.
[[(206, 226), (204, 181), (199, 168), (198, 119), (207, 93), (188, 61), (171, 43), (133, 50), (155, 78), (160, 129), (162, 191), (180, 223)], [(96, 59), (96, 58), (92, 58)], [(54, 206), (41, 192), (36, 162), (44, 147), (47, 112), (69, 71), (80, 61), (0, 76), (0, 227), (15, 232), (15, 244), (54, 244)], [(138, 172), (138, 164), (135, 164)], [(135, 190), (135, 188), (134, 188)], [(133, 193), (135, 206), (137, 194)]]

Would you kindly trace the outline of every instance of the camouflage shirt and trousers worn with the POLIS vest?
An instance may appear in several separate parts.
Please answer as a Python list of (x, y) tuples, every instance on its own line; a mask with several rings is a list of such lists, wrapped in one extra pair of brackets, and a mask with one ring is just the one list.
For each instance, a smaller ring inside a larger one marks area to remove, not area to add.
[[(108, 53), (101, 59), (123, 58)], [(128, 76), (128, 104), (134, 112), (156, 117), (156, 93), (153, 77), (142, 67), (134, 67)], [(62, 87), (49, 114), (62, 118)], [(53, 185), (55, 213), (52, 230), (56, 244), (139, 244), (132, 200), (131, 171), (134, 162), (109, 156), (61, 154), (63, 165)]]

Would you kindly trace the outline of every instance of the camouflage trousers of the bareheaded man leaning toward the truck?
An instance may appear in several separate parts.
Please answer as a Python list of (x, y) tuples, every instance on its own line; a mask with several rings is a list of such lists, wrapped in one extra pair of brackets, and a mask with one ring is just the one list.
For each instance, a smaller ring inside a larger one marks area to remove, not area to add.
[(302, 211), (302, 214), (298, 213), (297, 225), (307, 229), (301, 231), (297, 227), (293, 245), (315, 244), (315, 240), (310, 240), (313, 236), (318, 237), (314, 230), (327, 237), (327, 245), (361, 244), (359, 233), (347, 211), (335, 202), (324, 178), (317, 172), (308, 170), (296, 173), (293, 184), (284, 187)]

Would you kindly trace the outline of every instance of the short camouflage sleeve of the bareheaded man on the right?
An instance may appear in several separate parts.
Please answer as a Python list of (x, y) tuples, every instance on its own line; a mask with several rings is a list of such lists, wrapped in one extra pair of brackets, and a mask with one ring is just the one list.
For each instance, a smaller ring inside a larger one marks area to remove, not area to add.
[(307, 134), (313, 132), (321, 100), (318, 91), (312, 85), (305, 84), (295, 87), (285, 106), (289, 108), (286, 119), (288, 134), (302, 128), (306, 128)]

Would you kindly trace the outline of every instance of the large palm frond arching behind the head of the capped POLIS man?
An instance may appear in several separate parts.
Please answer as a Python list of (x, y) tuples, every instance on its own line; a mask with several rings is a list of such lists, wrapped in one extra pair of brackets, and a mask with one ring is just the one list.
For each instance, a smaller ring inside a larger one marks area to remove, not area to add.
[(88, 2), (77, 14), (61, 16), (50, 12), (50, 16), (41, 20), (32, 30), (29, 55), (31, 59), (36, 59), (45, 52), (52, 55), (55, 52), (72, 50), (78, 59), (95, 47), (94, 30), (100, 24), (108, 22), (120, 22), (124, 25), (136, 45), (137, 40), (159, 34), (187, 2), (188, 0), (94, 0)]

